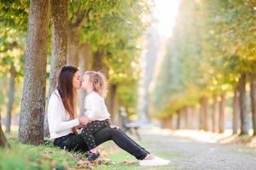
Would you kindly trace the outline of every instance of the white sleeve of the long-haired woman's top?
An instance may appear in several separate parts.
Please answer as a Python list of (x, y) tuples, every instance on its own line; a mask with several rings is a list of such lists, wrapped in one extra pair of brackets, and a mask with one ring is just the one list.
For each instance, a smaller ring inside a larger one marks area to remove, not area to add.
[(48, 105), (49, 130), (55, 133), (71, 129), (79, 125), (79, 119), (65, 121), (66, 111), (63, 109), (62, 101), (52, 94)]

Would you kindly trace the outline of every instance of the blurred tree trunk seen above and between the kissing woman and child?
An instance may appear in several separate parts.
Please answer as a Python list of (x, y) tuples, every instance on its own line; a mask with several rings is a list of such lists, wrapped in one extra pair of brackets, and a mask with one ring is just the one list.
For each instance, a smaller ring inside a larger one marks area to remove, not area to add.
[[(87, 43), (80, 44), (79, 46), (79, 70), (81, 78), (84, 76), (84, 71), (88, 70), (91, 63), (90, 45)], [(79, 90), (79, 116), (84, 115), (84, 89)]]

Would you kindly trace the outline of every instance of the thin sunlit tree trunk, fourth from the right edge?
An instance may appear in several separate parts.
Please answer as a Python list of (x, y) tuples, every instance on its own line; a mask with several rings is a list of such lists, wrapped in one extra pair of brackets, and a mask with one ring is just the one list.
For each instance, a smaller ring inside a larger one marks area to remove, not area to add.
[(226, 97), (225, 97), (225, 94), (222, 94), (220, 105), (219, 105), (219, 122), (218, 122), (219, 133), (224, 133), (225, 108), (226, 108)]

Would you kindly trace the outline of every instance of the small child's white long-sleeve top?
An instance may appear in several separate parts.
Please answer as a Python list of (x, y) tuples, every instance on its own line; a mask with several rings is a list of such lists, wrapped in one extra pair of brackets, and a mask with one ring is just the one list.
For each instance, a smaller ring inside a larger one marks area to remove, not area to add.
[(102, 96), (95, 91), (87, 94), (84, 99), (84, 115), (98, 121), (110, 118), (107, 106)]

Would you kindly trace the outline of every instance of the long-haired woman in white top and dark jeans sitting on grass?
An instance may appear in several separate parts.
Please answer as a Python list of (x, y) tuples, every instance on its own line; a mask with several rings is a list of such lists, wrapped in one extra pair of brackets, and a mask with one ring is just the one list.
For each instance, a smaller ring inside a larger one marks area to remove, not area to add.
[[(77, 128), (85, 126), (94, 120), (77, 117), (77, 90), (81, 87), (79, 69), (74, 66), (63, 66), (58, 77), (58, 85), (51, 94), (48, 105), (48, 122), (50, 139), (61, 149), (82, 151), (89, 150), (83, 135)], [(135, 141), (129, 138), (118, 127), (104, 127), (93, 134), (96, 146), (108, 140), (113, 140), (121, 149), (127, 151), (143, 166), (166, 165), (169, 161), (149, 154)]]

